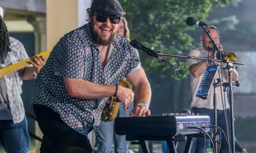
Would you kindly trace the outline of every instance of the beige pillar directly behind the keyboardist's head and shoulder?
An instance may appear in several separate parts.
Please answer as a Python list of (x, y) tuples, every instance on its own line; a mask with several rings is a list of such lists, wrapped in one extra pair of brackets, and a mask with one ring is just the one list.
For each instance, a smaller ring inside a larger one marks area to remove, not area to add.
[(86, 23), (91, 0), (46, 0), (47, 49), (66, 33)]

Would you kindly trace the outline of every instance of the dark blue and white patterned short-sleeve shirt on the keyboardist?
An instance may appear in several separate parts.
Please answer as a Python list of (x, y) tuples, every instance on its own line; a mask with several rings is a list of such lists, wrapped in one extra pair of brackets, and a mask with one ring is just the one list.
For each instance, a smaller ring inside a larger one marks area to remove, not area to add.
[(108, 98), (72, 98), (65, 89), (63, 78), (119, 84), (140, 62), (138, 51), (123, 36), (115, 36), (113, 47), (116, 51), (103, 70), (88, 24), (65, 34), (37, 76), (32, 103), (46, 105), (58, 112), (60, 118), (80, 134), (87, 135), (94, 129), (97, 136), (101, 112)]

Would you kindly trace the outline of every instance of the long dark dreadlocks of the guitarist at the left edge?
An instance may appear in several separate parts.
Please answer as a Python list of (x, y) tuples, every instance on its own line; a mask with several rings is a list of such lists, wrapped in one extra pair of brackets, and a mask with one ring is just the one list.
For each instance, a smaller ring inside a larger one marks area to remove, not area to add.
[(6, 56), (7, 51), (10, 50), (10, 39), (7, 31), (7, 27), (3, 18), (0, 16), (0, 62), (3, 63)]

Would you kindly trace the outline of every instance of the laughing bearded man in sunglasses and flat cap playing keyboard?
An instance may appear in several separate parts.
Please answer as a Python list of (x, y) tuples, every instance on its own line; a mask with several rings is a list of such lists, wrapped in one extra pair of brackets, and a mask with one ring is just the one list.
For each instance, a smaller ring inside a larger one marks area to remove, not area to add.
[[(87, 134), (98, 137), (101, 112), (115, 95), (127, 109), (131, 89), (119, 86), (126, 77), (137, 93), (130, 116), (149, 116), (151, 89), (138, 51), (116, 34), (124, 16), (117, 0), (94, 0), (89, 23), (65, 34), (41, 69), (32, 103), (43, 133), (41, 153), (93, 152)], [(98, 141), (96, 140), (96, 145)]]

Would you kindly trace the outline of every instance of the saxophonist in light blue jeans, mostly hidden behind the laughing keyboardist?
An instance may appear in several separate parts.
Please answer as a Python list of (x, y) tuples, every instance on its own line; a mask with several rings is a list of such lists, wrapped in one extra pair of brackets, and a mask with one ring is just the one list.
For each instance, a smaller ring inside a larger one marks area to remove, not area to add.
[[(130, 31), (128, 29), (128, 23), (124, 17), (122, 17), (120, 20), (119, 27), (118, 27), (118, 34), (123, 35), (126, 40), (130, 41)], [(126, 78), (124, 78), (119, 85), (126, 85), (126, 87), (132, 86), (126, 80)], [(112, 97), (112, 98), (114, 98), (114, 97)], [(105, 120), (104, 119), (103, 114), (111, 113), (112, 109), (114, 109), (111, 107), (117, 106), (116, 104), (112, 105), (110, 102), (111, 101), (107, 101), (105, 107), (107, 107), (108, 109), (111, 109), (111, 111), (104, 108), (105, 112), (102, 113), (102, 119), (100, 121), (99, 131), (98, 131), (97, 153), (110, 153), (113, 140), (114, 140), (114, 144), (115, 144), (115, 147), (114, 147), (115, 153), (127, 153), (129, 141), (125, 140), (124, 135), (120, 136), (115, 133), (115, 128), (114, 128), (115, 120)], [(115, 102), (115, 101), (113, 101), (113, 102)], [(133, 109), (133, 102), (130, 105), (130, 107), (126, 110), (123, 110), (123, 105), (122, 105), (122, 103), (120, 103), (116, 117), (129, 117), (130, 116), (129, 114), (132, 111), (132, 109)]]

